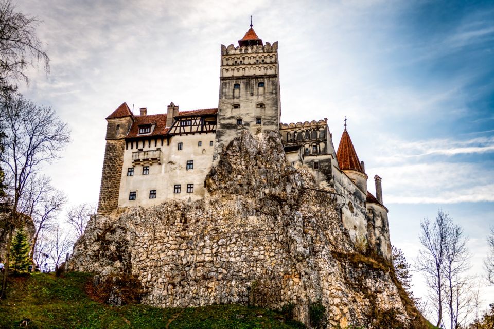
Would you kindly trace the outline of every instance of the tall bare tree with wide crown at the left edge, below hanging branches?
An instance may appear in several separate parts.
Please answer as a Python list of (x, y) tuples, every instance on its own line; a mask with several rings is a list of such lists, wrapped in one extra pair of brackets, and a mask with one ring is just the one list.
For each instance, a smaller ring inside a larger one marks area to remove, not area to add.
[(43, 163), (54, 161), (69, 142), (67, 125), (51, 107), (37, 106), (23, 96), (15, 96), (0, 103), (0, 120), (5, 124), (5, 152), (0, 158), (9, 176), (8, 193), (12, 200), (9, 237), (2, 284), (2, 295), (7, 284), (12, 232), (20, 218), (20, 202), (26, 194), (29, 180)]

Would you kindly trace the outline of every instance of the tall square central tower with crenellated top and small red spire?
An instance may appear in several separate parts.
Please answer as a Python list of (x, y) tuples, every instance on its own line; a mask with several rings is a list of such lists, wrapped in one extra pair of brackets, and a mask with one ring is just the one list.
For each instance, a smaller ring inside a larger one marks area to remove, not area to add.
[(238, 44), (221, 45), (215, 164), (222, 148), (241, 131), (279, 129), (278, 42), (263, 45), (251, 24)]

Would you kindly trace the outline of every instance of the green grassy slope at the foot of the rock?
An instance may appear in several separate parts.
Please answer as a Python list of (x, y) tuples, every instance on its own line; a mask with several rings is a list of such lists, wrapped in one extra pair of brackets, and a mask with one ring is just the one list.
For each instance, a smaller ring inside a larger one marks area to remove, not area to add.
[(10, 278), (7, 298), (0, 301), (0, 328), (170, 328), (170, 329), (289, 329), (302, 328), (268, 309), (242, 305), (157, 308), (145, 305), (109, 306), (90, 299), (84, 285), (87, 273), (66, 273), (64, 278), (33, 273)]

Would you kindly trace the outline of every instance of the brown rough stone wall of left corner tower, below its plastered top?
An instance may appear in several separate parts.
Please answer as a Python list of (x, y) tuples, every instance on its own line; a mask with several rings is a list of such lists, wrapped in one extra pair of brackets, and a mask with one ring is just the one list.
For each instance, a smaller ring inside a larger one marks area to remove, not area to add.
[(108, 214), (118, 207), (124, 149), (125, 140), (107, 139), (99, 190), (98, 213)]

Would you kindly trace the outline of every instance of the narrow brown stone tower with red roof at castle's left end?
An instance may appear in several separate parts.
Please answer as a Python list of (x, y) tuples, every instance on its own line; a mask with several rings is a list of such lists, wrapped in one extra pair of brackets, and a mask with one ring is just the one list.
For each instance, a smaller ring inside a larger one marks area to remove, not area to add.
[(98, 213), (110, 213), (118, 206), (118, 193), (125, 150), (125, 136), (134, 122), (127, 103), (120, 105), (107, 118), (107, 144), (104, 149), (103, 172), (99, 190)]

